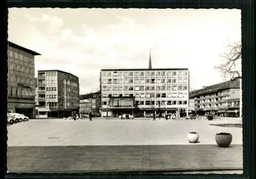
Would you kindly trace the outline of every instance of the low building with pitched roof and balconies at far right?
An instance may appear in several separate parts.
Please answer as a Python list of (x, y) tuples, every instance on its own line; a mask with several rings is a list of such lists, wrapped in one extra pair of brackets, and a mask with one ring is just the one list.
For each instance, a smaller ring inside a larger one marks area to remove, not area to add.
[(239, 115), (240, 83), (239, 79), (205, 86), (189, 94), (189, 99), (195, 101), (197, 114), (215, 111), (224, 116)]

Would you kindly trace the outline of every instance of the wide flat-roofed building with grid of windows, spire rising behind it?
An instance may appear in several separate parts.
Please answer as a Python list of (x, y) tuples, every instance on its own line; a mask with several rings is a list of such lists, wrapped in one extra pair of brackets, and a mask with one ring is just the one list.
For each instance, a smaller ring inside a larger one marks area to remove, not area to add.
[(103, 117), (188, 114), (188, 69), (102, 69), (100, 88)]

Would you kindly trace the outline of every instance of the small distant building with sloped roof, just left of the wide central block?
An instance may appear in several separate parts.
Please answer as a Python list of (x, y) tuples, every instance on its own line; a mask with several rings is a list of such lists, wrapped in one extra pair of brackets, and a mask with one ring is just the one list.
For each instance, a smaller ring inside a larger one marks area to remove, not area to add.
[(101, 97), (100, 92), (80, 95), (79, 113), (88, 115), (90, 110), (94, 115), (100, 114)]

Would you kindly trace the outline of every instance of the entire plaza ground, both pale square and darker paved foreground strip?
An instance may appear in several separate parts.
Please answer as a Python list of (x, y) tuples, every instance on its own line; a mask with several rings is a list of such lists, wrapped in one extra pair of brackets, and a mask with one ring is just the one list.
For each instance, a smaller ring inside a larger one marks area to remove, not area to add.
[[(35, 119), (8, 126), (9, 172), (243, 168), (242, 128), (209, 121)], [(188, 142), (187, 133), (199, 133)], [(229, 132), (220, 148), (215, 134)]]

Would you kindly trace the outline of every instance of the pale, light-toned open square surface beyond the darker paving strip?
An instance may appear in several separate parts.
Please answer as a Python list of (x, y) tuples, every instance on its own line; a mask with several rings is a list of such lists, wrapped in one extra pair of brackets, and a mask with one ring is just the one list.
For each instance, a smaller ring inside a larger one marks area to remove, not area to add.
[(9, 125), (8, 146), (63, 145), (194, 145), (187, 133), (199, 133), (199, 143), (216, 144), (215, 134), (229, 132), (232, 144), (242, 144), (242, 128), (209, 125), (207, 121), (38, 119)]

